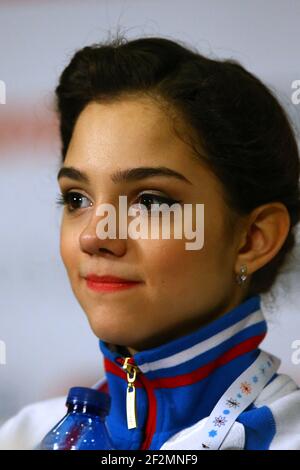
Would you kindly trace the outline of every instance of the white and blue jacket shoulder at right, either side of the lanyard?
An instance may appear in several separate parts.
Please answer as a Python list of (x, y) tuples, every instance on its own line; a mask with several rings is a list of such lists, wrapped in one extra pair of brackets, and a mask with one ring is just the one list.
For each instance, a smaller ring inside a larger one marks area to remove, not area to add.
[[(161, 449), (200, 449), (207, 419), (174, 434)], [(220, 447), (233, 449), (300, 450), (300, 389), (291, 377), (277, 374), (239, 415)]]

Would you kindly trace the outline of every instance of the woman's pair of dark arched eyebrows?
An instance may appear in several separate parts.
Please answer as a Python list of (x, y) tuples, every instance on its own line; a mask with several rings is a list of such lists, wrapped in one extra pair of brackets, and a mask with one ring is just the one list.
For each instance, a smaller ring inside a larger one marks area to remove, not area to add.
[[(175, 170), (165, 166), (158, 167), (148, 167), (140, 166), (135, 168), (126, 168), (125, 170), (117, 170), (115, 173), (111, 174), (111, 180), (113, 183), (121, 182), (130, 182), (130, 181), (140, 181), (145, 178), (151, 178), (153, 176), (168, 176), (173, 177), (186, 183), (192, 184), (184, 175), (178, 173)], [(57, 174), (57, 180), (60, 178), (70, 178), (75, 181), (80, 181), (82, 183), (89, 183), (89, 178), (84, 171), (78, 170), (72, 166), (63, 166), (60, 168)]]

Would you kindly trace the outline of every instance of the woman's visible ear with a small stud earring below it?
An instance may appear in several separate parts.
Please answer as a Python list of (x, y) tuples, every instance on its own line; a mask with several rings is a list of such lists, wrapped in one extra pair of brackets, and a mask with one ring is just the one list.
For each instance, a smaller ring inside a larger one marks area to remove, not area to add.
[(290, 229), (290, 215), (284, 204), (272, 202), (256, 207), (245, 219), (235, 264), (239, 273), (243, 264), (252, 274), (267, 264), (284, 244)]

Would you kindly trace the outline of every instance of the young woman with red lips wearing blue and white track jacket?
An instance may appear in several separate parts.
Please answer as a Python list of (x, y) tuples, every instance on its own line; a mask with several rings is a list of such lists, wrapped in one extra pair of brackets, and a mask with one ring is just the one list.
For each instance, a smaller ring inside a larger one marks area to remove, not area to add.
[[(56, 97), (61, 256), (100, 340), (115, 448), (300, 449), (299, 387), (259, 347), (261, 294), (300, 219), (277, 99), (236, 61), (157, 37), (77, 51)], [(163, 203), (203, 204), (203, 246), (99, 237), (97, 207), (120, 195), (144, 221)], [(2, 447), (34, 448), (63, 414), (63, 398), (23, 409)]]

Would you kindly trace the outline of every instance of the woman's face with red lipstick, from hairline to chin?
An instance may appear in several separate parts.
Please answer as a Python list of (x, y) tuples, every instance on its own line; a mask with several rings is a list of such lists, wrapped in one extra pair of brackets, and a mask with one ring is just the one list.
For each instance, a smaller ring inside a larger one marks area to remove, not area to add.
[[(132, 351), (148, 349), (188, 334), (239, 303), (237, 239), (228, 229), (221, 183), (192, 157), (190, 146), (176, 136), (154, 102), (124, 98), (90, 103), (76, 122), (64, 167), (88, 178), (59, 179), (63, 193), (81, 195), (64, 208), (60, 249), (72, 290), (99, 338)], [(111, 178), (119, 170), (138, 167), (165, 167), (183, 178)], [(127, 196), (128, 207), (145, 204), (142, 194), (149, 198), (149, 193), (155, 195), (150, 204), (161, 202), (157, 197), (193, 207), (204, 204), (201, 249), (187, 250), (191, 240), (184, 234), (181, 239), (97, 236), (99, 204), (110, 203), (117, 210), (119, 195)], [(140, 282), (129, 289), (96, 292), (87, 285), (89, 273)]]

